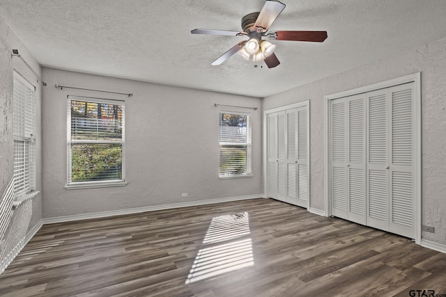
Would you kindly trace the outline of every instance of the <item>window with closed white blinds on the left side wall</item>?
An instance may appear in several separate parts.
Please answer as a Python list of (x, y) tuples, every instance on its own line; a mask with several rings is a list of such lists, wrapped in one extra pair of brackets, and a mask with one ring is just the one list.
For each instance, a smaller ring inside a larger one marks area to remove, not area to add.
[(36, 188), (36, 99), (34, 87), (17, 72), (14, 72), (13, 84), (14, 196), (17, 200)]

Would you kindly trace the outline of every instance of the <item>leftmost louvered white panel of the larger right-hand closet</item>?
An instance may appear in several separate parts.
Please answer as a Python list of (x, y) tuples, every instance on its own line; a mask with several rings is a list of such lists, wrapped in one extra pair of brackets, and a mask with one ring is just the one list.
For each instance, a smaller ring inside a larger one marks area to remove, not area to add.
[(346, 99), (330, 102), (330, 197), (332, 215), (347, 218)]

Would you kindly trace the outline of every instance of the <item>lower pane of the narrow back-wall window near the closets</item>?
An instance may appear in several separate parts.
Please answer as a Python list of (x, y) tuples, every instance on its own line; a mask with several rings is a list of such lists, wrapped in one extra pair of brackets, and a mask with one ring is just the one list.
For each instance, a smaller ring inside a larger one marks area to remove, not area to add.
[(248, 173), (246, 145), (220, 145), (220, 175), (246, 173)]

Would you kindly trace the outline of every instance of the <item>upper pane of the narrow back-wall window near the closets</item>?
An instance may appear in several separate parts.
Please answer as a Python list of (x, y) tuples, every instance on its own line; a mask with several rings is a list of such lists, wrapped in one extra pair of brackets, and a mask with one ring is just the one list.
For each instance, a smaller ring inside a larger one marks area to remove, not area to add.
[(220, 113), (220, 143), (247, 143), (248, 115)]

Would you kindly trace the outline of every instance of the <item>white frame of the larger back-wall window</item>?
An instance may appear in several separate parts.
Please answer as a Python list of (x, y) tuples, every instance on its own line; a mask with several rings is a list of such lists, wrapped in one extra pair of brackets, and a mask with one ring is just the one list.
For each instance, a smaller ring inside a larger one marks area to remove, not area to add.
[[(82, 97), (82, 96), (67, 96), (67, 186), (68, 190), (79, 188), (105, 188), (111, 186), (125, 186), (125, 102), (123, 100), (116, 99), (104, 99), (95, 97)], [(95, 140), (75, 140), (71, 139), (71, 102), (92, 102), (103, 104), (121, 105), (123, 107), (123, 120), (122, 120), (122, 138), (121, 141), (95, 141)], [(90, 182), (72, 182), (71, 170), (72, 170), (72, 158), (71, 158), (71, 145), (77, 143), (90, 143), (90, 144), (118, 144), (122, 147), (122, 166), (121, 166), (121, 179), (110, 179), (102, 181), (90, 181)]]

